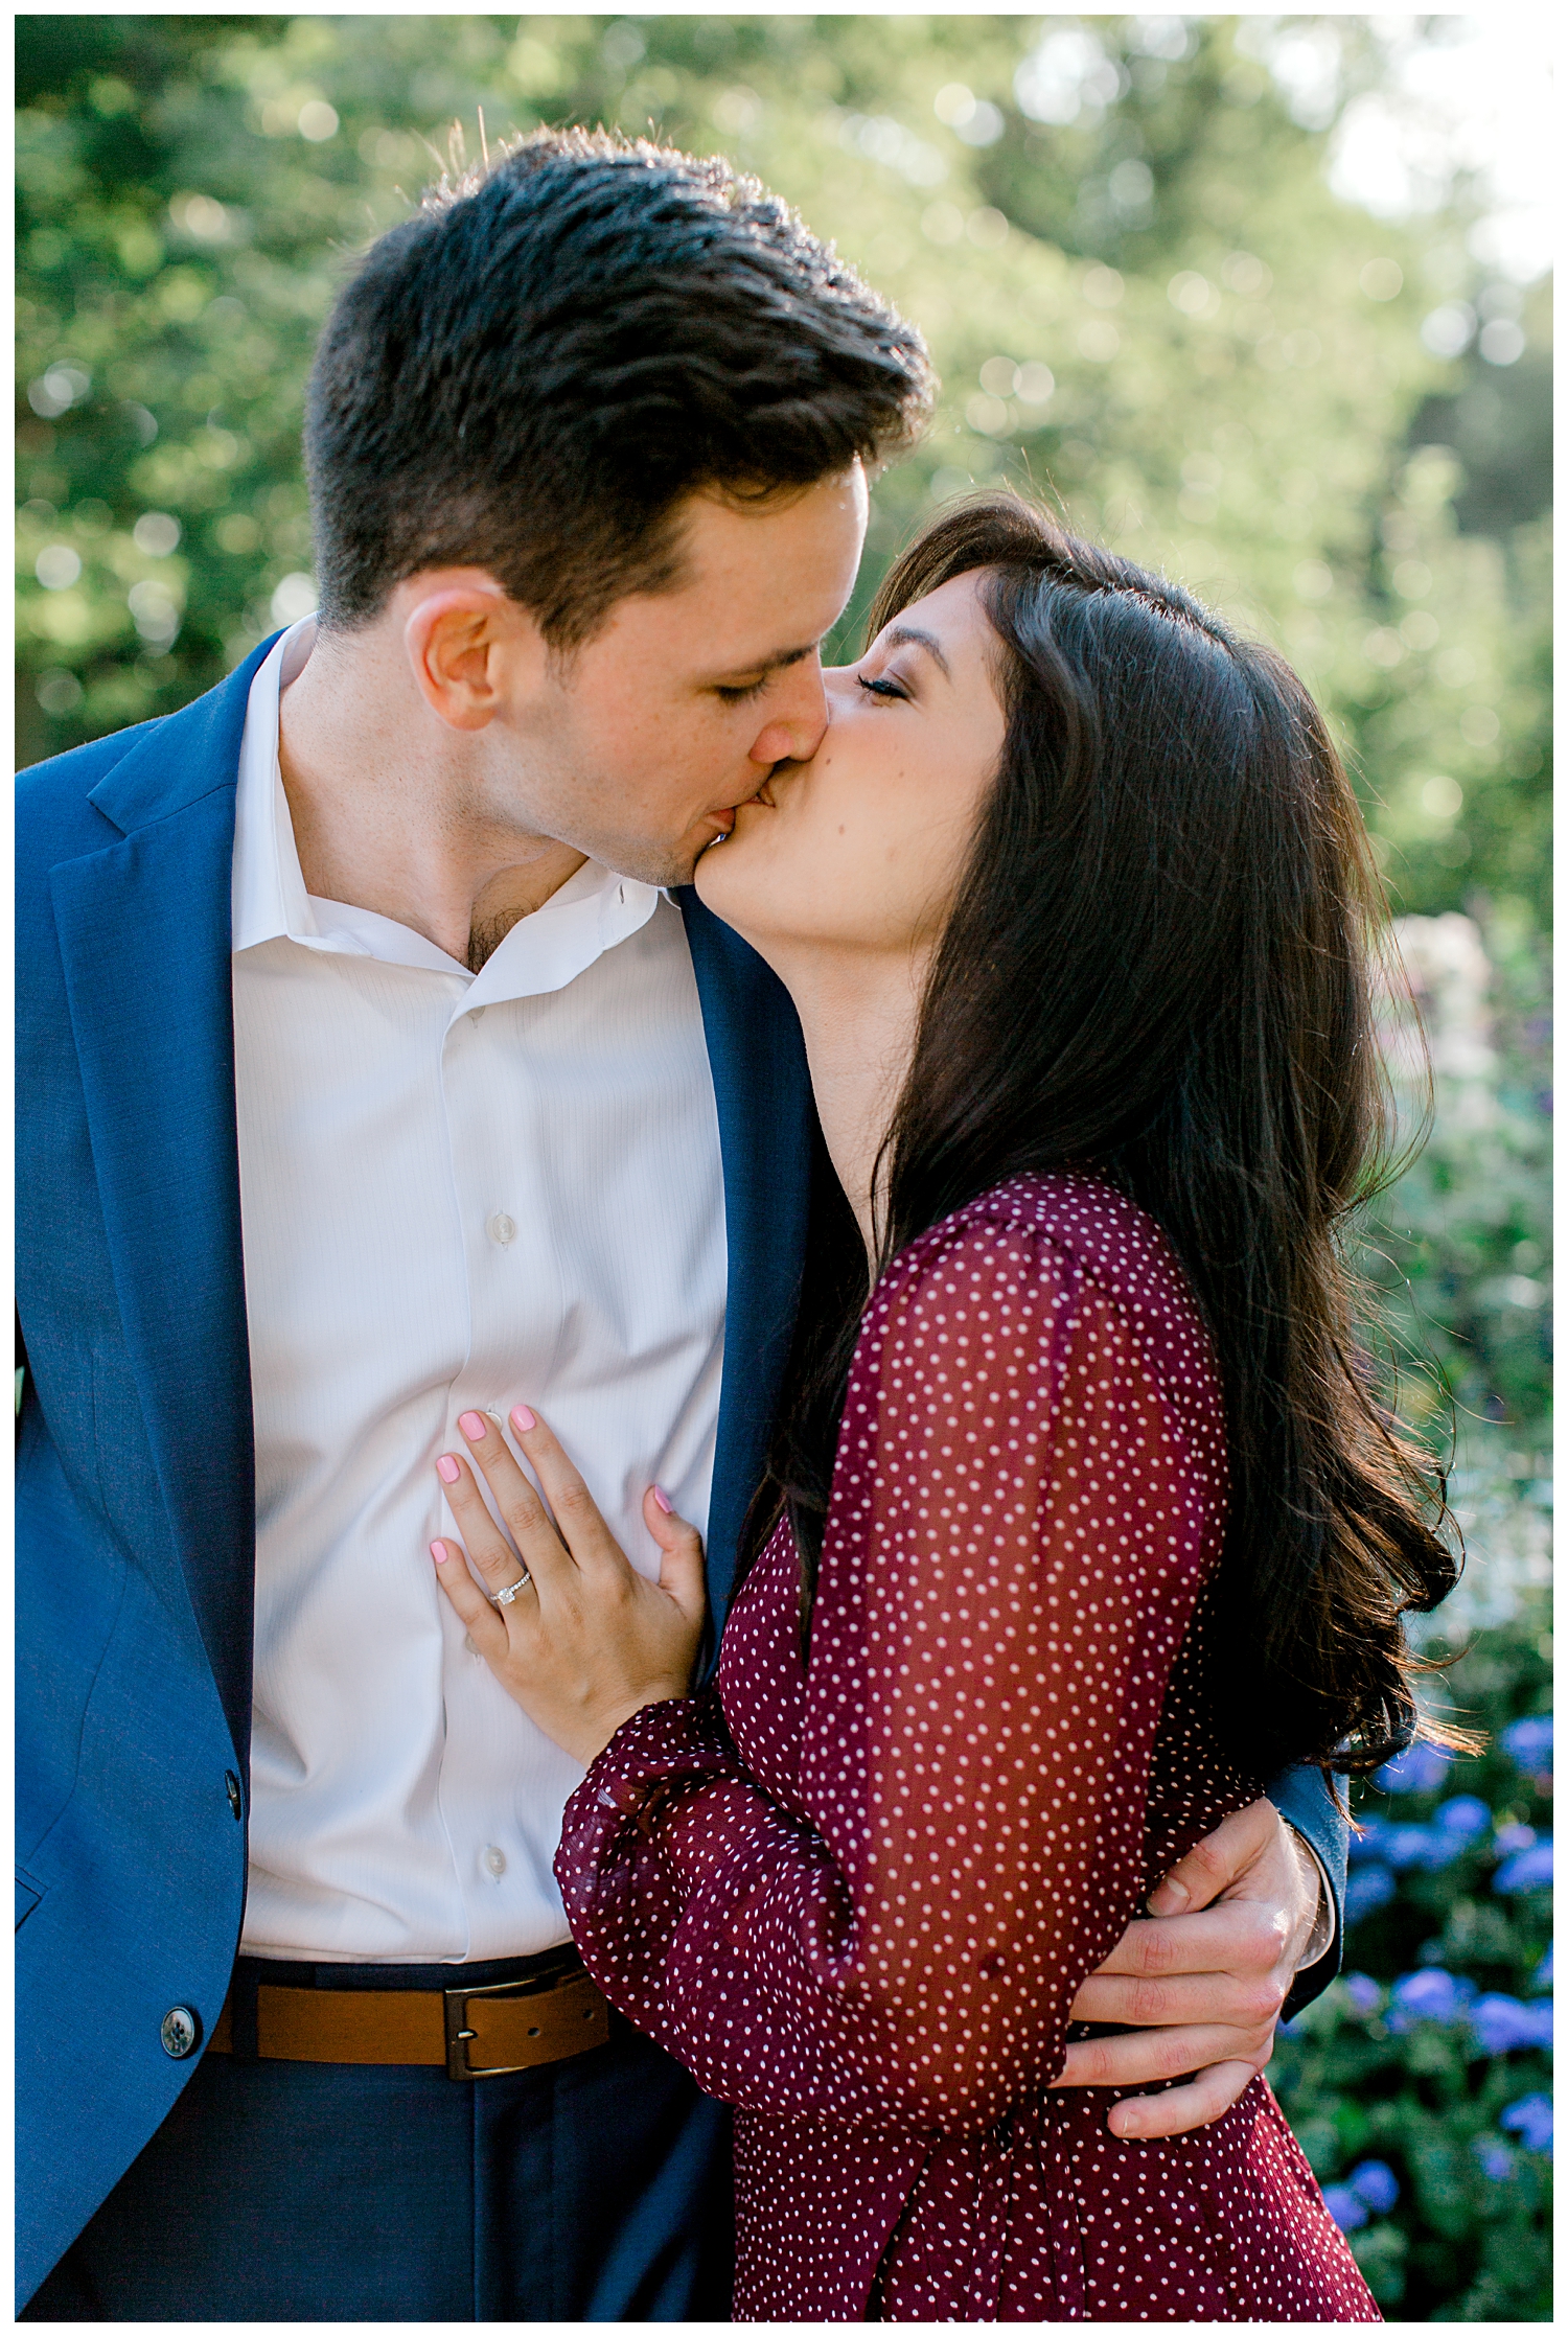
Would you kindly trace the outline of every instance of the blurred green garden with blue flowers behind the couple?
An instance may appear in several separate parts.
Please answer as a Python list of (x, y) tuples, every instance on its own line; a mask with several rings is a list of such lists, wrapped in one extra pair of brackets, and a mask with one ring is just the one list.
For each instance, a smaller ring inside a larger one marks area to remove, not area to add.
[[(1484, 28), (16, 26), (21, 762), (182, 706), (313, 605), (313, 337), (453, 124), (470, 154), (537, 122), (720, 150), (928, 332), (937, 425), (876, 484), (844, 645), (921, 514), (1010, 477), (1278, 640), (1327, 706), (1435, 1059), (1367, 1271), (1470, 1549), (1425, 1627), (1470, 1650), (1432, 1701), (1489, 1750), (1418, 1748), (1365, 1795), (1348, 1977), (1274, 2082), (1409, 2321), (1549, 2316), (1549, 280), (1444, 115), (1456, 58), (1496, 68)], [(1507, 19), (1491, 40), (1524, 103), (1545, 58)], [(1409, 1005), (1388, 1017), (1409, 1066)], [(1411, 1131), (1418, 1089), (1407, 1068)]]

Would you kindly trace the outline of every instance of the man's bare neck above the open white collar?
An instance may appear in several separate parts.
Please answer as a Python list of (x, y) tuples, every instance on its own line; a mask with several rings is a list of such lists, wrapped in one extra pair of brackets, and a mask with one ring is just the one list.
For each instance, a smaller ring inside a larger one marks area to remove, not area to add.
[(306, 893), (409, 925), (472, 972), (584, 865), (495, 813), (481, 738), (446, 731), (374, 636), (318, 638), (278, 701), (278, 767)]

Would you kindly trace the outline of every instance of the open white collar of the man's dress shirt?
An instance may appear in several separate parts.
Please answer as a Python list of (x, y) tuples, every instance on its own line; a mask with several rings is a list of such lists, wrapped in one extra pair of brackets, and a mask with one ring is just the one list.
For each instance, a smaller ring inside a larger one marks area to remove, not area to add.
[(477, 975), (411, 925), (306, 893), (278, 767), (278, 699), (304, 671), (313, 643), (315, 617), (304, 617), (273, 643), (250, 682), (234, 799), (236, 956), (287, 939), (301, 949), (449, 975), (460, 986), (463, 1012), (470, 1012), (502, 998), (563, 991), (608, 949), (640, 932), (659, 907), (657, 886), (617, 876), (598, 860), (587, 860), (542, 909), (521, 916)]

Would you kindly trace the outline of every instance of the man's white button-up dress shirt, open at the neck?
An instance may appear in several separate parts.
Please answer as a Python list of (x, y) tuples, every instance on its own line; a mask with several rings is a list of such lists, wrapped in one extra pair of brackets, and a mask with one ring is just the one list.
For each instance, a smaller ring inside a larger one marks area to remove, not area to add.
[(259, 666), (234, 832), (234, 1068), (257, 1444), (255, 1956), (458, 1963), (568, 1937), (582, 1769), (437, 1589), (458, 1414), (537, 1405), (633, 1566), (706, 1528), (724, 1194), (680, 911), (589, 862), (479, 975), (304, 890)]

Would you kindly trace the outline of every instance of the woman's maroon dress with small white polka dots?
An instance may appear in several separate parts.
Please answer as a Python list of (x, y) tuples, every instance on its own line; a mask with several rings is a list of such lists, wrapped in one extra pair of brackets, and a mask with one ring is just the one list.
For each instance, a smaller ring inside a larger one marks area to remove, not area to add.
[(811, 1662), (780, 1528), (717, 1694), (654, 1704), (566, 1814), (589, 1970), (736, 2108), (738, 2321), (1376, 2321), (1257, 2078), (1117, 2143), (1047, 2092), (1082, 1977), (1257, 1795), (1187, 1655), (1222, 1412), (1159, 1229), (1019, 1178), (865, 1318)]

